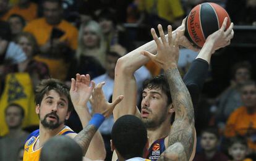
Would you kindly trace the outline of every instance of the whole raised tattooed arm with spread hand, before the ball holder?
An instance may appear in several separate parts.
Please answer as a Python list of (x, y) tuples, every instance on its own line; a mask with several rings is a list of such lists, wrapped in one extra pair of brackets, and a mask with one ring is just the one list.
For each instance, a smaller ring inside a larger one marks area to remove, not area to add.
[[(169, 83), (173, 107), (176, 113), (171, 132), (169, 133), (168, 146), (171, 146), (169, 147), (170, 149), (176, 149), (177, 152), (171, 151), (168, 152), (168, 155), (163, 155), (169, 157), (169, 160), (174, 160), (179, 155), (184, 157), (182, 154), (186, 154), (186, 158), (189, 159), (194, 146), (194, 109), (189, 91), (177, 69), (179, 57), (178, 41), (181, 33), (177, 33), (173, 41), (171, 26), (168, 26), (169, 41), (167, 43), (161, 25), (158, 25), (158, 30), (163, 43), (158, 39), (155, 30), (151, 29), (153, 38), (158, 46), (158, 54), (153, 55), (149, 52), (142, 52), (142, 54), (150, 57), (153, 62), (163, 68), (164, 75)], [(174, 146), (179, 146), (179, 148), (174, 148)]]

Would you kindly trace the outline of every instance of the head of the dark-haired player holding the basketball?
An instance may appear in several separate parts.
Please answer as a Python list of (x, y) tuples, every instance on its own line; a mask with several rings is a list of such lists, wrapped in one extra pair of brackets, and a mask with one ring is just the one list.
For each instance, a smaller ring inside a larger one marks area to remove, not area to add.
[(155, 76), (143, 83), (141, 107), (142, 122), (147, 129), (171, 123), (174, 109), (169, 84), (164, 75)]

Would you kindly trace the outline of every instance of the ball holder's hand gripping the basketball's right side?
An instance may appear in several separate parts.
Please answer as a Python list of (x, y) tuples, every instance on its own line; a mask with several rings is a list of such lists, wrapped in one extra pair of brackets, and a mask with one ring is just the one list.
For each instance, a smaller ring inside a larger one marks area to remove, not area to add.
[(207, 40), (205, 41), (205, 43), (213, 43), (213, 51), (211, 51), (212, 53), (220, 49), (221, 47), (228, 46), (234, 36), (233, 23), (231, 23), (229, 28), (225, 31), (227, 22), (228, 17), (225, 17), (220, 30), (215, 31), (214, 33), (209, 35)]

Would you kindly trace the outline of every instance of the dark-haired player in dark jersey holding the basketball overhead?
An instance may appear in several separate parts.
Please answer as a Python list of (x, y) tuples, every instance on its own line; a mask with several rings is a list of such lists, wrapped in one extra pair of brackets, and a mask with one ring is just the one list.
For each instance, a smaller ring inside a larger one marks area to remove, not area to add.
[[(230, 39), (233, 38), (233, 23), (231, 23), (228, 30), (224, 31), (227, 20), (227, 18), (224, 19), (224, 22), (220, 30), (208, 36), (207, 41), (205, 42), (197, 56), (197, 59), (195, 59), (194, 62), (192, 62), (189, 72), (187, 73), (187, 75), (184, 76), (184, 83), (190, 90), (194, 106), (197, 103), (198, 94), (200, 93), (200, 89), (202, 88), (203, 81), (208, 70), (208, 64), (210, 64), (211, 54), (213, 54), (217, 49), (220, 49), (221, 47), (230, 44)], [(168, 39), (172, 39), (172, 37), (175, 37), (176, 33), (179, 31), (180, 38), (177, 43), (179, 45), (188, 47), (189, 49), (193, 49), (187, 38), (184, 36), (184, 27), (185, 19), (183, 20), (182, 25), (175, 31), (173, 31), (172, 35), (171, 32), (169, 31), (167, 37)], [(161, 40), (164, 43), (164, 38), (166, 36), (164, 36), (163, 34), (163, 29), (161, 25), (158, 26), (158, 30), (160, 31)], [(169, 30), (171, 29), (169, 28)], [(157, 40), (158, 38), (156, 36), (155, 30), (151, 30), (151, 34), (155, 41), (150, 41), (149, 43), (140, 46), (138, 49), (129, 52), (129, 54), (127, 54), (124, 57), (121, 57), (121, 59), (117, 61), (113, 97), (123, 94), (124, 100), (119, 105), (117, 105), (117, 107), (113, 111), (113, 114), (114, 120), (126, 114), (137, 115), (142, 119), (142, 122), (145, 123), (148, 132), (148, 144), (144, 152), (144, 157), (150, 160), (157, 160), (160, 157), (161, 153), (166, 149), (166, 147), (174, 143), (173, 139), (170, 139), (170, 136), (175, 136), (179, 132), (171, 131), (170, 134), (171, 117), (175, 109), (179, 109), (175, 108), (176, 102), (171, 101), (170, 95), (173, 95), (179, 91), (177, 91), (177, 89), (171, 90), (170, 94), (168, 85), (169, 80), (167, 81), (166, 78), (164, 78), (164, 76), (156, 76), (155, 78), (151, 78), (150, 80), (146, 81), (143, 87), (141, 114), (139, 110), (136, 108), (137, 101), (135, 94), (137, 89), (133, 74), (135, 70), (140, 68), (142, 65), (146, 64), (149, 60), (148, 57), (143, 56), (141, 52), (143, 52), (144, 54), (147, 54), (148, 52), (156, 54), (156, 49), (158, 49), (158, 52), (160, 49), (165, 49), (168, 51), (168, 48), (166, 49), (166, 43), (160, 46), (160, 41)], [(178, 55), (176, 56), (176, 59), (178, 59)], [(182, 86), (180, 88), (182, 88)], [(185, 90), (185, 88), (182, 89)], [(184, 91), (183, 93), (179, 93), (179, 97), (184, 97), (182, 95), (187, 94), (184, 93)], [(174, 96), (172, 98), (174, 99)], [(183, 110), (188, 108), (189, 107), (186, 107)], [(181, 113), (177, 111), (176, 115), (177, 114)], [(184, 112), (182, 114), (187, 114), (187, 112)], [(190, 120), (192, 120), (192, 118), (190, 118)], [(190, 145), (189, 147), (186, 147), (186, 157), (187, 159), (192, 160), (194, 158), (194, 152), (192, 152), (192, 147), (195, 146), (196, 142), (196, 140), (194, 139), (195, 130), (191, 130), (191, 128), (194, 127), (194, 122), (189, 123), (187, 121), (183, 121), (182, 119), (179, 119), (179, 123), (182, 123), (182, 126), (180, 128), (182, 129), (185, 126), (189, 127), (189, 130), (191, 132), (189, 140)], [(184, 133), (180, 134), (179, 136), (187, 137), (187, 134)], [(177, 146), (180, 146), (180, 144), (178, 143)], [(113, 160), (116, 160), (116, 158), (117, 156), (114, 154)]]

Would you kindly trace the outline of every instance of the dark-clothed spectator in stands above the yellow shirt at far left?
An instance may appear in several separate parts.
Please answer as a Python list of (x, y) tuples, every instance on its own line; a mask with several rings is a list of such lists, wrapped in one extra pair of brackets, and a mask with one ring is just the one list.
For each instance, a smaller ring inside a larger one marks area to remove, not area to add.
[(35, 37), (31, 33), (19, 33), (15, 37), (15, 43), (23, 49), (27, 56), (27, 60), (21, 62), (15, 67), (15, 72), (27, 72), (32, 78), (33, 87), (40, 82), (40, 80), (49, 78), (48, 66), (40, 61), (34, 59), (38, 54), (38, 45)]

